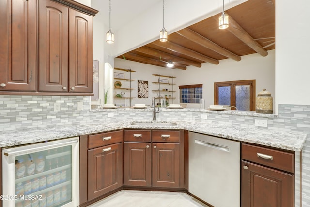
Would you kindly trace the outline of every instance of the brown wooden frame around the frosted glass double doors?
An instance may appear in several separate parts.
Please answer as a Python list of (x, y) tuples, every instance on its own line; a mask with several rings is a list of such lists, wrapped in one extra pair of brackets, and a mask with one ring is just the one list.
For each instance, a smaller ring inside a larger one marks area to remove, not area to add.
[[(218, 87), (230, 86), (231, 87), (231, 105), (236, 106), (236, 88), (237, 85), (249, 85), (250, 86), (250, 111), (255, 111), (255, 95), (256, 95), (256, 82), (252, 80), (235, 80), (225, 82), (214, 83), (214, 104), (218, 105)], [(232, 108), (234, 110), (234, 108)]]

